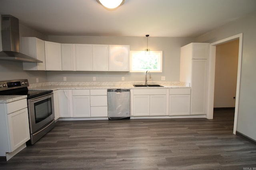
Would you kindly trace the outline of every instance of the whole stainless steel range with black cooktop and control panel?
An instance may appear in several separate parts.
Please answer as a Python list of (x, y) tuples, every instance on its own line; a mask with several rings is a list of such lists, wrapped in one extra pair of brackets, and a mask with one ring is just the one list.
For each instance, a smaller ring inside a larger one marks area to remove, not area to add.
[(55, 126), (52, 90), (28, 90), (28, 80), (0, 82), (0, 95), (27, 95), (30, 141), (33, 145)]

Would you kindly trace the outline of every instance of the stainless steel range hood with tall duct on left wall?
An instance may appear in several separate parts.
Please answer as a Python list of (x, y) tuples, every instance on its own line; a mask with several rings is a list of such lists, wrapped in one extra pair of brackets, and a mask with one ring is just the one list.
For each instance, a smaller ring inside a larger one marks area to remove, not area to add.
[(0, 60), (12, 60), (30, 63), (43, 63), (33, 57), (20, 53), (19, 20), (11, 15), (2, 15), (2, 50)]

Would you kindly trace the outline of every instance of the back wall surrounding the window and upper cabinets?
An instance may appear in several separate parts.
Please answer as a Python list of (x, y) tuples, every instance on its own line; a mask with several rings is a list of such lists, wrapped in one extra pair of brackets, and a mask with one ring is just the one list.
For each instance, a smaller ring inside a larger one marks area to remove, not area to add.
[[(84, 44), (110, 44), (110, 45), (130, 45), (130, 50), (144, 50), (147, 47), (146, 37), (98, 37), (98, 36), (48, 36), (48, 41), (58, 43), (84, 43)], [(170, 37), (149, 37), (148, 48), (150, 50), (163, 51), (163, 72), (152, 73), (151, 81), (161, 81), (161, 76), (165, 76), (165, 81), (179, 81), (180, 76), (180, 47), (191, 43), (194, 38), (170, 38)], [(145, 73), (130, 72), (86, 72), (86, 71), (48, 71), (48, 81), (62, 82), (63, 76), (68, 82), (92, 82), (92, 77), (96, 77), (96, 82), (119, 82), (124, 76), (125, 81), (145, 81)]]

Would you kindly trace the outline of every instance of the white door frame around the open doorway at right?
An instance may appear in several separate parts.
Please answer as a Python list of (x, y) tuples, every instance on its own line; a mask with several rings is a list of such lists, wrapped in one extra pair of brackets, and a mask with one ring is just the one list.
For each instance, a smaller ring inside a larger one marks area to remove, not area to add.
[(214, 79), (215, 79), (215, 59), (216, 59), (216, 45), (227, 43), (239, 39), (239, 50), (238, 50), (238, 69), (237, 69), (237, 80), (236, 80), (236, 104), (235, 104), (235, 115), (234, 115), (234, 129), (233, 133), (236, 134), (237, 117), (238, 117), (238, 103), (239, 103), (239, 92), (240, 92), (240, 76), (241, 76), (241, 65), (242, 65), (242, 40), (243, 34), (237, 34), (214, 43), (210, 43), (209, 52), (209, 72), (208, 72), (208, 102), (207, 102), (207, 119), (213, 119), (213, 107), (214, 107)]

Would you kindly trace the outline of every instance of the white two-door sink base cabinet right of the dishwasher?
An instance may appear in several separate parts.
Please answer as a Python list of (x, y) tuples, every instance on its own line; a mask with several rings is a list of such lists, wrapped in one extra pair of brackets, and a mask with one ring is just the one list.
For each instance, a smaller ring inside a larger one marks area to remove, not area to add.
[(133, 115), (166, 115), (166, 89), (134, 89)]

